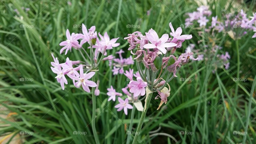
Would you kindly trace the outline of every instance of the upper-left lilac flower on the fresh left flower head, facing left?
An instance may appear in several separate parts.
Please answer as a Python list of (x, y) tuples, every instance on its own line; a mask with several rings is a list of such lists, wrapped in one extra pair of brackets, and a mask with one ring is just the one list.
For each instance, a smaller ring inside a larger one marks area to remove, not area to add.
[(67, 51), (70, 50), (71, 51), (71, 48), (74, 47), (75, 49), (77, 48), (81, 48), (81, 45), (79, 45), (79, 42), (77, 41), (78, 39), (80, 39), (82, 36), (82, 34), (75, 34), (75, 33), (72, 33), (70, 35), (69, 33), (69, 30), (67, 29), (66, 31), (66, 37), (67, 37), (67, 40), (66, 41), (63, 41), (61, 42), (59, 45), (60, 46), (64, 46), (62, 47), (62, 49), (60, 50), (60, 53), (62, 53), (65, 49), (66, 49), (66, 52), (65, 52), (65, 55), (67, 54)]

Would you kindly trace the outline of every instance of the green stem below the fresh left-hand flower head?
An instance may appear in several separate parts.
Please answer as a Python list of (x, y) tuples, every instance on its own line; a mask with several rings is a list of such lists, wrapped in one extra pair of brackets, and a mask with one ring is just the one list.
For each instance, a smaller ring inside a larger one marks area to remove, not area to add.
[[(92, 81), (95, 82), (95, 76), (92, 77)], [(96, 96), (94, 94), (95, 87), (91, 88), (91, 96), (93, 99), (93, 115), (92, 115), (92, 129), (93, 129), (93, 136), (95, 139), (95, 142), (99, 144), (99, 137), (97, 135), (96, 127), (95, 127), (95, 119), (96, 119)]]

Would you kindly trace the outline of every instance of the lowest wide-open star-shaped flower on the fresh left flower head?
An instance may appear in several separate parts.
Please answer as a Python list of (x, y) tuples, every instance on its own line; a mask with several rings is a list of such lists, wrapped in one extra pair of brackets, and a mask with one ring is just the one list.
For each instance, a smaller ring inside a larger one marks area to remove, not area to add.
[(80, 76), (73, 76), (70, 74), (67, 74), (71, 79), (76, 80), (77, 82), (75, 82), (75, 87), (80, 87), (82, 85), (83, 90), (85, 90), (86, 92), (90, 93), (90, 87), (96, 87), (96, 83), (93, 81), (90, 81), (88, 79), (90, 79), (91, 77), (93, 77), (93, 75), (95, 74), (95, 72), (90, 72), (88, 74), (84, 74), (83, 73), (83, 67), (80, 67)]

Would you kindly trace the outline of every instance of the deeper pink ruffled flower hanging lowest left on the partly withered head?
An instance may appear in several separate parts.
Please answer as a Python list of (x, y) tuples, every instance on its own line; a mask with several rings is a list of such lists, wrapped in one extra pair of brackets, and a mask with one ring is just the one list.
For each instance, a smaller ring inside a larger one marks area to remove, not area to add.
[(145, 95), (145, 87), (147, 86), (147, 82), (143, 82), (141, 77), (138, 77), (137, 81), (130, 81), (129, 85), (132, 86), (130, 92), (133, 93), (134, 97)]

